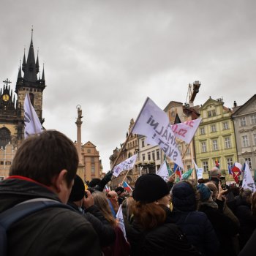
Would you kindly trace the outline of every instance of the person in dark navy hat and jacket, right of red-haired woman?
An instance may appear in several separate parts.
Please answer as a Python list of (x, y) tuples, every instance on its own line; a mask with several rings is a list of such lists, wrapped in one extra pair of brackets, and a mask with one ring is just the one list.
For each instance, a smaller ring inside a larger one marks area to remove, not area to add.
[(170, 221), (181, 227), (202, 255), (216, 255), (219, 240), (206, 214), (196, 211), (196, 189), (189, 181), (181, 181), (174, 185), (171, 194), (173, 211)]

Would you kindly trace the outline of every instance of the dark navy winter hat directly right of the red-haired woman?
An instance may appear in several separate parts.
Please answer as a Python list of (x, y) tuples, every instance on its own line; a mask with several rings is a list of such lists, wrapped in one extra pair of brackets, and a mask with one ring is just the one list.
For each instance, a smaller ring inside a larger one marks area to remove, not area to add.
[(181, 181), (172, 189), (172, 203), (180, 211), (195, 211), (195, 190), (192, 184)]

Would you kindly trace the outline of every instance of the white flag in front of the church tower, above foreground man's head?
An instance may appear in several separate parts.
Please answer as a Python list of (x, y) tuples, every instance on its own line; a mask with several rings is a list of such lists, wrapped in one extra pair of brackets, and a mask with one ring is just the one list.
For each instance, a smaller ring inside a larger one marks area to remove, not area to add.
[(24, 100), (24, 137), (42, 132), (42, 124), (39, 121), (36, 111), (31, 105), (29, 94), (26, 94)]

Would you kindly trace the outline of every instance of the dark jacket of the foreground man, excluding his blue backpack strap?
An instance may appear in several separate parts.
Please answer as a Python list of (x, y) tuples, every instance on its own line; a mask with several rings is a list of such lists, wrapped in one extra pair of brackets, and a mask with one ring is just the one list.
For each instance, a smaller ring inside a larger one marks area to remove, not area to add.
[[(58, 200), (47, 187), (22, 179), (0, 183), (0, 212), (33, 198)], [(7, 233), (9, 255), (100, 255), (99, 238), (80, 214), (46, 208), (13, 224)]]

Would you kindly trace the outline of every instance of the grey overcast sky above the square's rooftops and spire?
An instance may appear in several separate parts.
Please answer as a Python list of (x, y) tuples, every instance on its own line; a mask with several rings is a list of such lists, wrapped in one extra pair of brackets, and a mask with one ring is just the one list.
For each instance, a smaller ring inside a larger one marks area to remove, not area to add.
[(33, 25), (44, 127), (75, 141), (81, 105), (82, 143), (97, 146), (105, 171), (146, 97), (162, 109), (186, 102), (195, 80), (195, 105), (211, 96), (232, 108), (256, 93), (254, 0), (1, 0), (0, 19), (0, 81), (15, 91)]

